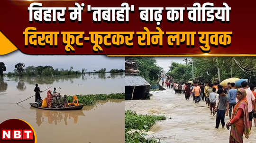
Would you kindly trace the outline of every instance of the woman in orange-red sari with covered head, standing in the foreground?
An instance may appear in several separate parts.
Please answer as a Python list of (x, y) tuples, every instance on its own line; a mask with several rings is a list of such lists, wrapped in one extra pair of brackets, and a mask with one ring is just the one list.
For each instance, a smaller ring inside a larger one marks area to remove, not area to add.
[(249, 137), (250, 124), (247, 110), (247, 98), (245, 89), (239, 88), (237, 91), (238, 103), (234, 107), (232, 118), (227, 123), (231, 126), (229, 143), (243, 143), (243, 134)]

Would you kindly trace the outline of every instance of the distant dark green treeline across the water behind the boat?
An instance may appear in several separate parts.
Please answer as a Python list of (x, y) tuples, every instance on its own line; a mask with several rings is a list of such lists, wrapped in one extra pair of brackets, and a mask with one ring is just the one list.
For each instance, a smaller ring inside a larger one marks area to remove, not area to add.
[[(3, 62), (0, 62), (0, 76), (3, 76), (3, 72), (6, 71), (5, 64)], [(9, 72), (6, 75), (7, 76), (52, 76), (52, 75), (81, 75), (81, 74), (91, 74), (91, 73), (99, 73), (99, 74), (105, 74), (105, 73), (120, 73), (124, 72), (122, 69), (111, 69), (109, 72), (106, 71), (106, 68), (101, 68), (100, 70), (93, 70), (93, 72), (87, 72), (86, 68), (82, 68), (82, 71), (80, 70), (73, 70), (73, 67), (70, 67), (70, 69), (64, 68), (53, 68), (52, 66), (29, 66), (25, 67), (24, 63), (18, 63), (15, 65), (14, 72)]]

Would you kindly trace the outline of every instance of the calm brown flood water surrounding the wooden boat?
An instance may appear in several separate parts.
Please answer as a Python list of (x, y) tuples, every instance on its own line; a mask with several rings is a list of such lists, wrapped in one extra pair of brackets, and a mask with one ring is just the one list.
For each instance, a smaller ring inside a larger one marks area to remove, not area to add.
[[(124, 93), (124, 75), (4, 77), (0, 80), (0, 122), (10, 118), (27, 121), (37, 133), (37, 143), (123, 143), (125, 101), (100, 101), (82, 110), (51, 111), (30, 107), (35, 84), (52, 86), (62, 95)], [(47, 90), (48, 91), (48, 90)], [(46, 97), (46, 92), (41, 93)]]

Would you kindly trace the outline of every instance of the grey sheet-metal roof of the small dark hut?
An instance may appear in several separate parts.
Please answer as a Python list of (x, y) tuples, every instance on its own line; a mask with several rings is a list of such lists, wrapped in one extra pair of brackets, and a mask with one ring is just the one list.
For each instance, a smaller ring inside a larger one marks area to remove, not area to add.
[(141, 76), (125, 76), (125, 86), (151, 86)]

